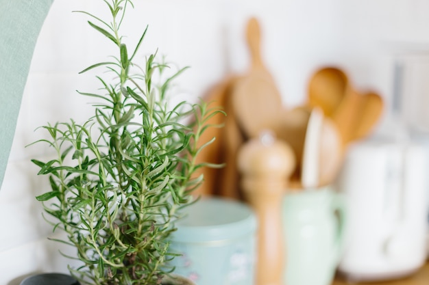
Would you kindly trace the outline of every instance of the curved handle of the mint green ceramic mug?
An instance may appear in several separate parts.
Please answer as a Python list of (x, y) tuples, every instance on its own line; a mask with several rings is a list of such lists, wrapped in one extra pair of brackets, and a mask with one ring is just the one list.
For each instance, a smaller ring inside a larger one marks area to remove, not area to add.
[(336, 267), (341, 258), (345, 246), (345, 225), (347, 219), (345, 198), (341, 193), (334, 193), (332, 198), (332, 215), (335, 216), (336, 234), (334, 240), (334, 254), (332, 255), (332, 264)]

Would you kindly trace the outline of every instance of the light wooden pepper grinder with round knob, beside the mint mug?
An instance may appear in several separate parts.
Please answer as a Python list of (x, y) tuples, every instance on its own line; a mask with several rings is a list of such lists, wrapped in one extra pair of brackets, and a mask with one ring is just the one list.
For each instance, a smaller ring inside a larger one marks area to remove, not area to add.
[(283, 284), (282, 200), (294, 168), (292, 148), (269, 132), (247, 141), (238, 152), (241, 187), (258, 217), (256, 285)]

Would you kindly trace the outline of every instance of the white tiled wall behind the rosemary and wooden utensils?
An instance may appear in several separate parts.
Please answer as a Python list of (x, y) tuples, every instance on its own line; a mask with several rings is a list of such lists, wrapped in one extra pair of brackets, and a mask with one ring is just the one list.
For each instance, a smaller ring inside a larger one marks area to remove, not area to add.
[[(77, 72), (110, 53), (100, 44), (106, 40), (86, 25), (87, 17), (71, 11), (100, 10), (96, 2), (55, 0), (40, 34), (0, 191), (0, 285), (35, 271), (66, 271), (68, 260), (58, 254), (58, 243), (47, 241), (50, 228), (34, 199), (47, 182), (29, 160), (49, 153), (25, 146), (40, 138), (37, 126), (87, 117), (89, 107), (75, 90), (91, 90), (96, 82)], [(138, 34), (149, 24), (143, 49), (159, 48), (169, 62), (191, 66), (177, 81), (190, 99), (226, 74), (247, 70), (244, 30), (250, 15), (260, 19), (263, 58), (288, 107), (303, 102), (308, 77), (323, 64), (341, 66), (356, 85), (389, 100), (393, 55), (404, 46), (429, 49), (426, 0), (134, 2), (132, 23), (125, 27)]]

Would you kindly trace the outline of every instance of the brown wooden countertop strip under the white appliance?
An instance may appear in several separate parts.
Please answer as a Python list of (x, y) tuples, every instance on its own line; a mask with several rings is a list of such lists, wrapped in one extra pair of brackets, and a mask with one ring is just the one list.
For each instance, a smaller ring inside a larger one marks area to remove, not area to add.
[(410, 275), (409, 277), (404, 277), (398, 280), (392, 281), (383, 281), (383, 282), (358, 282), (350, 283), (347, 282), (343, 277), (337, 276), (332, 285), (350, 285), (350, 284), (371, 284), (371, 285), (428, 285), (429, 284), (429, 261), (421, 267), (419, 271)]

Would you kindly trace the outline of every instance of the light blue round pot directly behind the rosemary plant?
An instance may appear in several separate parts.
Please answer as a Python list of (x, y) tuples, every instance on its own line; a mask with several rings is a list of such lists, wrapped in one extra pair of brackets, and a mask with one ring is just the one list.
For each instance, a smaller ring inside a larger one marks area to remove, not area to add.
[(175, 273), (197, 285), (254, 284), (256, 216), (245, 204), (204, 198), (185, 208), (171, 249)]

